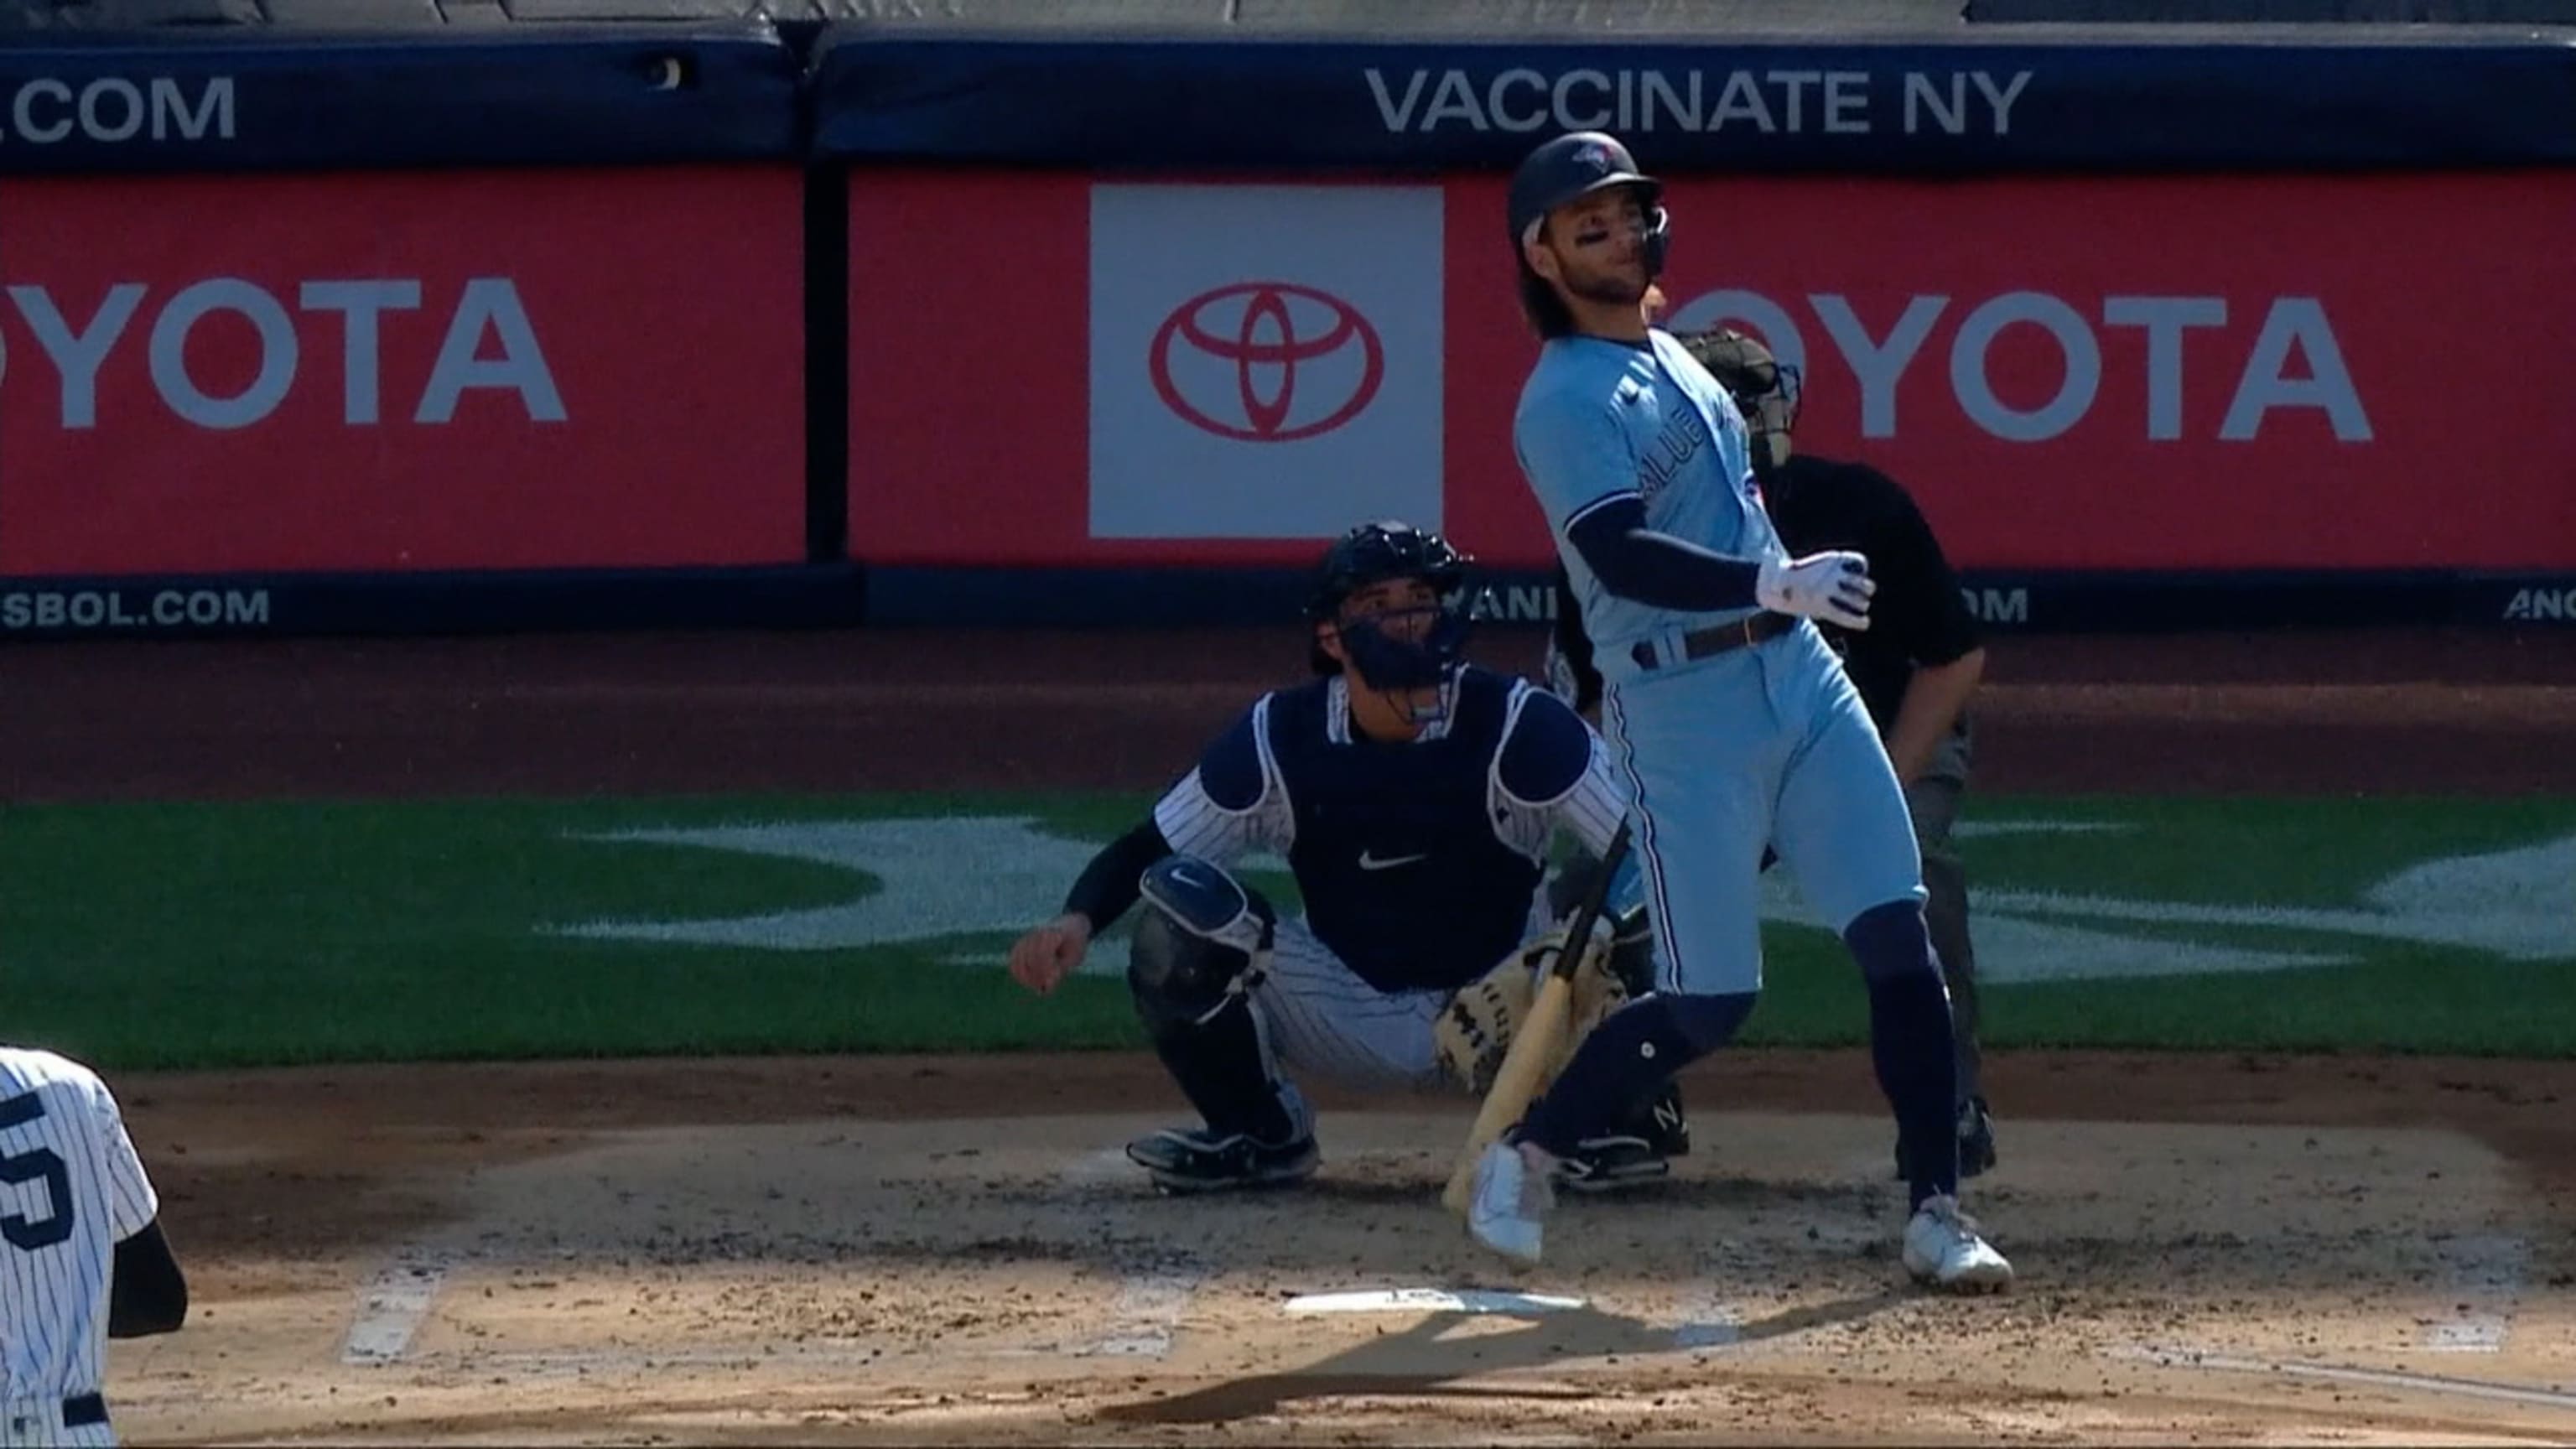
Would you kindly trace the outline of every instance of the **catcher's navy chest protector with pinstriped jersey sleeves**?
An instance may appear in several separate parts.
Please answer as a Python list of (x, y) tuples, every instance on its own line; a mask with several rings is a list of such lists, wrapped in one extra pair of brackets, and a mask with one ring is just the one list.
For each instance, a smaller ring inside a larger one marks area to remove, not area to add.
[(1595, 851), (1625, 797), (1561, 699), (1484, 668), (1409, 743), (1360, 735), (1350, 686), (1265, 694), (1154, 807), (1182, 853), (1278, 851), (1306, 926), (1368, 985), (1458, 990), (1530, 933), (1553, 830)]

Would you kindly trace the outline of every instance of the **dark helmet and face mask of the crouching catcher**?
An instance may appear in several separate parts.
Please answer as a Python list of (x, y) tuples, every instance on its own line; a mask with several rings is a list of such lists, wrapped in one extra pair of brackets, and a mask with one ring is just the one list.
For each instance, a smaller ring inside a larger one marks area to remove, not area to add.
[[(1311, 624), (1332, 624), (1342, 637), (1360, 683), (1378, 691), (1432, 688), (1448, 681), (1466, 655), (1466, 637), (1473, 627), (1476, 601), (1466, 583), (1466, 554), (1440, 534), (1414, 529), (1394, 518), (1360, 523), (1324, 549), (1316, 567), (1314, 596), (1306, 601)], [(1386, 624), (1399, 614), (1368, 614), (1345, 619), (1342, 606), (1352, 593), (1391, 580), (1422, 580), (1432, 588), (1432, 619), (1417, 637), (1394, 637)], [(1324, 652), (1321, 639), (1311, 645), (1309, 663), (1319, 676), (1342, 673), (1342, 660)]]

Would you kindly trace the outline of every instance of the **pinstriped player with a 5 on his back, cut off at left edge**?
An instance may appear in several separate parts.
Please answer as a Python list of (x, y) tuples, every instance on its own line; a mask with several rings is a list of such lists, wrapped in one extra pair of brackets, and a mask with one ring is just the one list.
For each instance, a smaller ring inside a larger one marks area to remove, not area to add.
[(98, 1073), (0, 1047), (0, 1444), (116, 1444), (106, 1341), (188, 1318), (157, 1214)]

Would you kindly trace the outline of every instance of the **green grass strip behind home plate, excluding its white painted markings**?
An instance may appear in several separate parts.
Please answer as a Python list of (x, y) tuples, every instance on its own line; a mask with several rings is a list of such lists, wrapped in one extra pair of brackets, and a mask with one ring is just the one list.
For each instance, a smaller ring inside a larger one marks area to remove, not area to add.
[[(587, 941), (598, 918), (721, 918), (848, 902), (832, 864), (577, 833), (755, 820), (1028, 815), (1105, 841), (1144, 797), (685, 802), (64, 804), (0, 812), (0, 1018), (106, 1067), (330, 1060), (1131, 1047), (1118, 980), (1023, 995), (1010, 931), (778, 951)], [(2349, 908), (2432, 856), (2576, 833), (2576, 802), (1981, 799), (1976, 820), (2117, 820), (2105, 835), (1968, 841), (1978, 887), (2202, 905)], [(1285, 877), (1262, 884), (1288, 895)], [(1051, 913), (1064, 882), (1036, 892)], [(1018, 908), (1015, 908), (1015, 920)], [(2306, 949), (2354, 964), (1989, 985), (1986, 1044), (2576, 1055), (2568, 954), (2506, 962), (2280, 926), (2084, 923)], [(1852, 1044), (1862, 990), (1826, 933), (1765, 928), (1749, 1042)]]

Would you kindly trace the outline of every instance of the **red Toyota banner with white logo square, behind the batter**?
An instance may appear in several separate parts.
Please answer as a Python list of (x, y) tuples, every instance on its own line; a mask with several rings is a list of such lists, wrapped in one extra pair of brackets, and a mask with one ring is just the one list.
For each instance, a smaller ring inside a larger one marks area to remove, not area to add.
[[(2576, 565), (2576, 178), (1674, 180), (1669, 322), (1968, 567)], [(1303, 562), (1347, 521), (1551, 557), (1499, 178), (853, 180), (853, 549)], [(935, 237), (925, 242), (925, 237)]]

